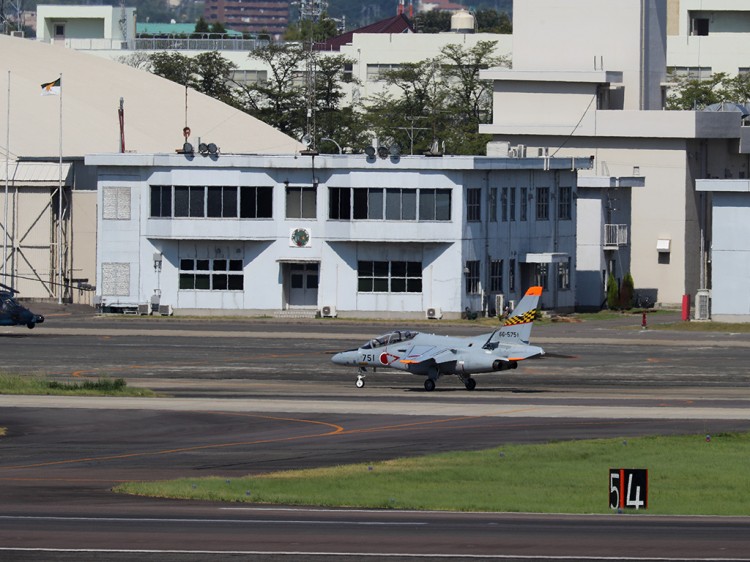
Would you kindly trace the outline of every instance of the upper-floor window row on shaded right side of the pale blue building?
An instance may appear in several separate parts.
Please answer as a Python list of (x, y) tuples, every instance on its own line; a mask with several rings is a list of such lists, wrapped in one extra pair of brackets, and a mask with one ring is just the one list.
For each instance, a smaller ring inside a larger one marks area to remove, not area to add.
[[(560, 187), (556, 195), (550, 194), (549, 187), (503, 187), (500, 188), (499, 205), (497, 195), (498, 188), (491, 187), (488, 201), (490, 222), (497, 222), (498, 208), (502, 222), (515, 221), (516, 211), (518, 211), (519, 221), (528, 220), (529, 207), (534, 211), (535, 220), (549, 220), (553, 197), (557, 198), (557, 218), (559, 220), (573, 218), (573, 189), (571, 187)], [(482, 220), (482, 190), (479, 188), (466, 190), (466, 220), (469, 222)]]

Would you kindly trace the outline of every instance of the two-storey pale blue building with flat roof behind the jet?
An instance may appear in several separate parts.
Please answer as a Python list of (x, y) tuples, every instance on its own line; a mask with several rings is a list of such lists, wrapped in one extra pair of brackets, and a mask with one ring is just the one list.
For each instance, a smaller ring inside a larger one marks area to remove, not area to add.
[(98, 304), (179, 314), (495, 314), (575, 296), (589, 158), (100, 154)]

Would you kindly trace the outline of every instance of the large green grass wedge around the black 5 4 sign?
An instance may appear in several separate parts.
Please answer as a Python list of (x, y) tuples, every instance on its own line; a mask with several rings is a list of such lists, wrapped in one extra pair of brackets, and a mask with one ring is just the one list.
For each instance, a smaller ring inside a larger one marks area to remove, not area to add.
[(507, 445), (242, 478), (130, 482), (134, 495), (325, 507), (609, 513), (609, 469), (649, 470), (651, 514), (750, 515), (750, 434)]

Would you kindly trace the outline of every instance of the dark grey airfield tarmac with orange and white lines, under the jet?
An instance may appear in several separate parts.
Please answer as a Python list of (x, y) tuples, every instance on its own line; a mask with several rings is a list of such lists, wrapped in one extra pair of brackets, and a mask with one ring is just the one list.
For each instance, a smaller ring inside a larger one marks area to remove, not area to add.
[(384, 372), (356, 389), (353, 372), (330, 364), (331, 352), (387, 331), (382, 324), (44, 313), (48, 321), (35, 330), (0, 331), (6, 370), (62, 380), (123, 376), (164, 396), (0, 396), (2, 560), (741, 560), (750, 553), (745, 517), (285, 510), (109, 491), (123, 480), (231, 479), (512, 442), (747, 430), (746, 334), (643, 331), (631, 318), (548, 324), (533, 337), (548, 351), (544, 360), (511, 376), (477, 377), (474, 392), (443, 378), (426, 393), (421, 377)]

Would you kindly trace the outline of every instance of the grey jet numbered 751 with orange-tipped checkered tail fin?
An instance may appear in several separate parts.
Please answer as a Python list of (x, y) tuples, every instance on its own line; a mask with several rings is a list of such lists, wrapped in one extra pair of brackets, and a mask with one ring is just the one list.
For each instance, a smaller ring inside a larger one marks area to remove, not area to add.
[(518, 367), (518, 362), (544, 355), (541, 347), (529, 345), (541, 287), (531, 287), (495, 331), (474, 337), (423, 334), (412, 330), (394, 330), (365, 343), (359, 349), (336, 353), (337, 365), (358, 368), (357, 388), (365, 385), (367, 368), (399, 369), (425, 378), (424, 388), (435, 390), (442, 375), (456, 375), (474, 390), (478, 373), (493, 373)]

